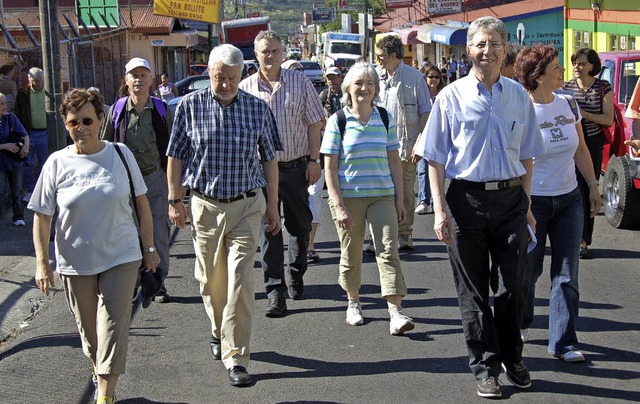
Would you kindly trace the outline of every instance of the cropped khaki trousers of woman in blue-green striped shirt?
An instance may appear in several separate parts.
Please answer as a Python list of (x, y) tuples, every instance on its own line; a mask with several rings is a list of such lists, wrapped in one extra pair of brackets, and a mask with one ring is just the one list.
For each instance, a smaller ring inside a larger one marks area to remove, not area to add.
[[(340, 276), (338, 282), (345, 291), (360, 290), (362, 278), (362, 243), (369, 222), (376, 262), (380, 273), (382, 297), (407, 294), (407, 286), (398, 255), (398, 216), (393, 196), (344, 198), (353, 228), (347, 231), (336, 226), (340, 239)], [(336, 212), (329, 199), (331, 217)]]

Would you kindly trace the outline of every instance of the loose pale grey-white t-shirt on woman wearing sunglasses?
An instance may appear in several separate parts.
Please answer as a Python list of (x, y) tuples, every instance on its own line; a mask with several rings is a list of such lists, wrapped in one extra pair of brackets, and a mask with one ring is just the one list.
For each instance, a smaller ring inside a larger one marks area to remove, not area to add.
[[(124, 154), (136, 195), (147, 187), (133, 153)], [(28, 208), (45, 215), (59, 209), (55, 223), (56, 272), (95, 275), (142, 258), (133, 221), (129, 178), (112, 143), (95, 154), (68, 146), (45, 162)]]

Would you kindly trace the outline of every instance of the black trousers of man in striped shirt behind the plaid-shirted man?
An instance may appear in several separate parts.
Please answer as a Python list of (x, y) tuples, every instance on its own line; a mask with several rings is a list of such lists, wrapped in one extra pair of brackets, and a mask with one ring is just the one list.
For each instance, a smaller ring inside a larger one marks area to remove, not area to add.
[[(307, 249), (309, 248), (309, 232), (311, 231), (311, 209), (309, 209), (309, 192), (305, 179), (306, 164), (291, 168), (279, 168), (278, 181), (279, 207), (282, 207), (284, 227), (289, 233), (289, 266), (287, 267), (292, 282), (302, 283), (307, 271)], [(265, 193), (266, 196), (266, 193)], [(284, 275), (284, 239), (282, 232), (275, 236), (263, 231), (260, 240), (262, 252), (262, 270), (267, 296), (287, 297), (287, 284)]]

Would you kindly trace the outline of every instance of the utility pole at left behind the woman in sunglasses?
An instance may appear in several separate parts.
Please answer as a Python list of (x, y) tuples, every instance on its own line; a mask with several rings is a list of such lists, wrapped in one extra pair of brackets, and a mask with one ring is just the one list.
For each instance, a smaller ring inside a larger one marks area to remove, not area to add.
[(62, 104), (62, 67), (58, 41), (58, 0), (40, 1), (40, 41), (44, 71), (45, 110), (49, 153), (67, 145), (67, 135), (58, 110)]

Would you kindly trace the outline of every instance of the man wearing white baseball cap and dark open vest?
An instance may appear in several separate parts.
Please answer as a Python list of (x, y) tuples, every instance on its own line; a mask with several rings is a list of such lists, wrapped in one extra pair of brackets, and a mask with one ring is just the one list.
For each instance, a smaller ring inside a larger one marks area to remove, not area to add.
[[(165, 285), (169, 273), (169, 188), (167, 185), (167, 146), (173, 115), (166, 103), (151, 97), (153, 71), (149, 62), (134, 57), (125, 65), (125, 77), (118, 91), (125, 94), (117, 100), (105, 117), (102, 139), (124, 143), (136, 158), (153, 215), (153, 239), (162, 273), (162, 288), (154, 301), (166, 303)], [(153, 252), (143, 251), (143, 253)]]

